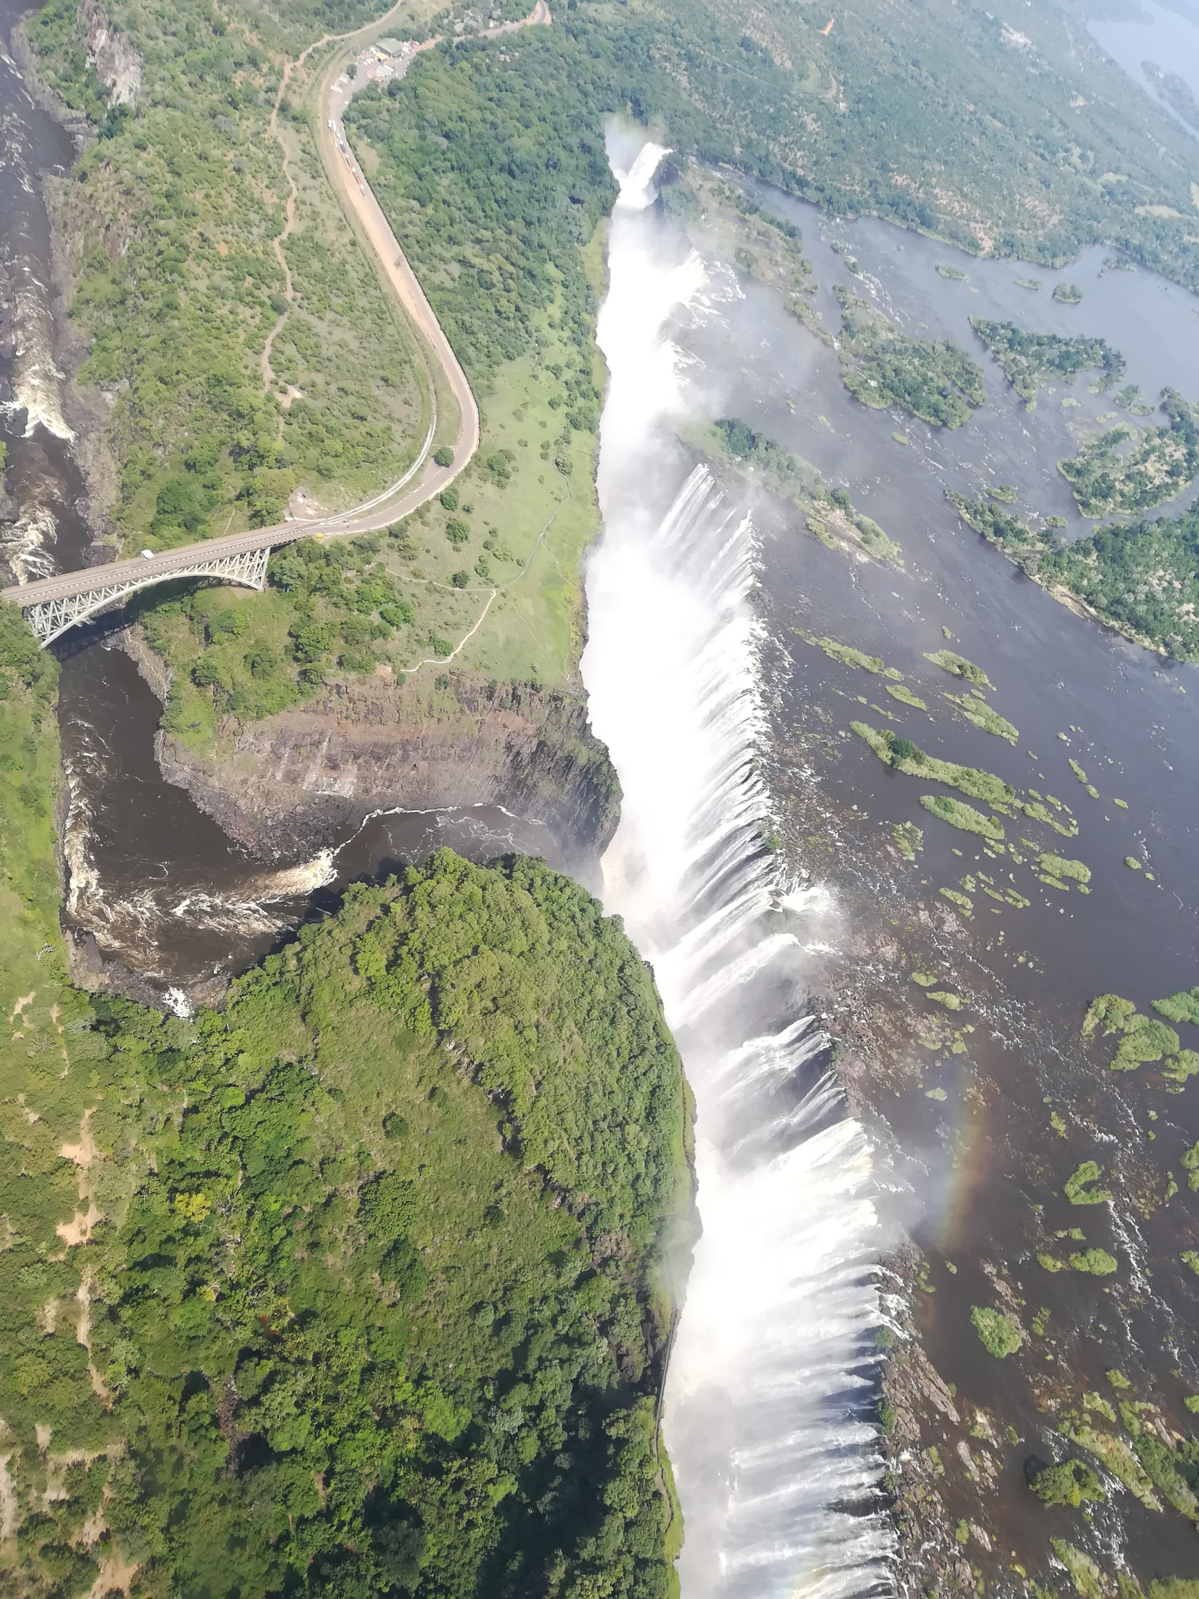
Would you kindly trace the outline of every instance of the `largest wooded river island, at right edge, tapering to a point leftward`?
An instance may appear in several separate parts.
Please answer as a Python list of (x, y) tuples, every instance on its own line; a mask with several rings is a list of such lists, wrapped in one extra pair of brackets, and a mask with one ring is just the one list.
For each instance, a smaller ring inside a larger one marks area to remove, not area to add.
[(1055, 600), (1177, 660), (1199, 660), (1199, 512), (1098, 528), (1062, 545), (990, 500), (946, 497)]

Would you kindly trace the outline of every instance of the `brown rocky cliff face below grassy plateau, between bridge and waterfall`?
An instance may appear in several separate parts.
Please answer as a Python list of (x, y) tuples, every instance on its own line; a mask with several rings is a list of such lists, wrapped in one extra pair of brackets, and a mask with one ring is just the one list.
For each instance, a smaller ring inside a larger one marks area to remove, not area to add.
[(297, 859), (388, 807), (500, 804), (544, 822), (572, 865), (615, 831), (620, 785), (587, 723), (580, 691), (491, 686), (456, 675), (369, 678), (329, 688), (302, 710), (230, 723), (214, 756), (174, 734), (163, 776), (257, 855)]

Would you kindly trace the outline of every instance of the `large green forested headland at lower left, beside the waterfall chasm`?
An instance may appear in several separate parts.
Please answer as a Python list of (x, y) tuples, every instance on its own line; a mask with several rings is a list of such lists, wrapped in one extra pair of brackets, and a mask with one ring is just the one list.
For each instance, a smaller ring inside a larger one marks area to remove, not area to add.
[(8, 1580), (665, 1596), (691, 1132), (619, 924), (443, 851), (219, 1014), (86, 995), (56, 664), (13, 606), (0, 680)]

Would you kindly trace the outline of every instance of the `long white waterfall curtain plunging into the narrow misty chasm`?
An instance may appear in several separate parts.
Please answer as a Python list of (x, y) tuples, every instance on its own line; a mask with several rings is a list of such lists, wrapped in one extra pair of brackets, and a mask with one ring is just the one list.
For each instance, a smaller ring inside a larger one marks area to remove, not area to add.
[(703, 1233), (663, 1407), (683, 1599), (847, 1599), (889, 1586), (894, 1548), (870, 1418), (878, 1153), (803, 998), (828, 895), (795, 892), (766, 839), (753, 521), (705, 467), (660, 513), (684, 409), (668, 328), (705, 277), (647, 209), (654, 154), (627, 150), (582, 670), (625, 795), (604, 903), (654, 966), (697, 1103)]

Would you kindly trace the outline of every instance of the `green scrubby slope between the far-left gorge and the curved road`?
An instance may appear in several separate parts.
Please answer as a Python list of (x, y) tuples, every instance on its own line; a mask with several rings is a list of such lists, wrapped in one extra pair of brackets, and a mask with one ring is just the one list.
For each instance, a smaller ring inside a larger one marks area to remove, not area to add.
[[(134, 107), (115, 110), (86, 62), (78, 8), (48, 0), (29, 24), (42, 74), (101, 125), (54, 203), (75, 278), (70, 315), (88, 347), (82, 377), (112, 405), (115, 520), (139, 545), (278, 521), (301, 478), (345, 502), (398, 477), (416, 453), (420, 395), (406, 336), (321, 190), (289, 102), (299, 201), (288, 309), (272, 246), (288, 181), (267, 134), (280, 51), (364, 21), (368, 8), (285, 10), (251, 5), (230, 27), (198, 0), (169, 14), (155, 0), (121, 6), (142, 88)], [(259, 358), (281, 312), (264, 393)]]

